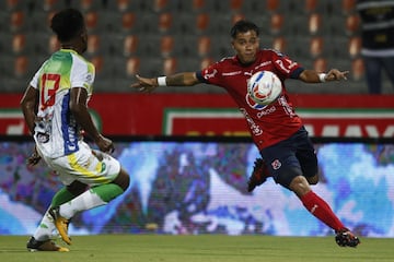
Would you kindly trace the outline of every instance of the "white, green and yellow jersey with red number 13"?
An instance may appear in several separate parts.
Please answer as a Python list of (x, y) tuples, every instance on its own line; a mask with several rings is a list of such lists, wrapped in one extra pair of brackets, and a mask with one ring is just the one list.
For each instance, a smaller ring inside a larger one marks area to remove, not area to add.
[(70, 91), (84, 87), (89, 98), (94, 66), (70, 49), (60, 49), (46, 60), (31, 81), (39, 91), (34, 140), (47, 157), (56, 158), (79, 150), (80, 127), (70, 112)]

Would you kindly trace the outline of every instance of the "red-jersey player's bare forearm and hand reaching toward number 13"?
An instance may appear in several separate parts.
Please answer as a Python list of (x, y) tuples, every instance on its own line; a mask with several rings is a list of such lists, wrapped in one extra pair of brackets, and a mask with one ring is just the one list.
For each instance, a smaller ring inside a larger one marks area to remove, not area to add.
[(131, 87), (141, 92), (150, 93), (159, 86), (190, 86), (200, 83), (195, 72), (176, 73), (167, 76), (159, 76), (153, 79), (136, 75), (137, 82)]

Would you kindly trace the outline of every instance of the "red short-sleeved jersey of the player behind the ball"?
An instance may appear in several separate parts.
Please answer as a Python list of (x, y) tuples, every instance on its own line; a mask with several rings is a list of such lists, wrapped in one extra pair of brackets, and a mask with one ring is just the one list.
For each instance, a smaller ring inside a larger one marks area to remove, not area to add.
[[(246, 81), (258, 71), (277, 74), (282, 84), (279, 98), (267, 106), (256, 104), (247, 93)], [(289, 100), (285, 80), (298, 79), (302, 71), (303, 68), (289, 57), (271, 49), (262, 49), (252, 64), (242, 64), (237, 57), (224, 58), (197, 72), (197, 76), (207, 84), (227, 90), (244, 115), (253, 141), (262, 151), (290, 138), (301, 128), (302, 121)]]

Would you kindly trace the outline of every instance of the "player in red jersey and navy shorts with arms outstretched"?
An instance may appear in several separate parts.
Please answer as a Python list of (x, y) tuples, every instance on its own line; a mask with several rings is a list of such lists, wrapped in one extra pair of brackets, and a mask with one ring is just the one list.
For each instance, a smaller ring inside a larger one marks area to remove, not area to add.
[[(231, 29), (235, 56), (224, 58), (197, 72), (182, 72), (159, 78), (141, 78), (131, 87), (152, 92), (158, 86), (192, 86), (207, 83), (223, 87), (237, 104), (248, 124), (254, 143), (264, 160), (258, 159), (248, 181), (248, 191), (263, 183), (267, 177), (291, 190), (305, 209), (333, 228), (336, 242), (341, 247), (357, 247), (360, 242), (329, 205), (313, 192), (316, 184), (317, 158), (300, 117), (294, 112), (285, 87), (286, 79), (305, 83), (346, 80), (347, 71), (332, 69), (317, 73), (304, 69), (289, 57), (271, 49), (259, 48), (259, 29), (248, 21), (236, 22)], [(247, 93), (247, 80), (258, 71), (271, 71), (282, 83), (283, 91), (273, 104), (254, 103)]]

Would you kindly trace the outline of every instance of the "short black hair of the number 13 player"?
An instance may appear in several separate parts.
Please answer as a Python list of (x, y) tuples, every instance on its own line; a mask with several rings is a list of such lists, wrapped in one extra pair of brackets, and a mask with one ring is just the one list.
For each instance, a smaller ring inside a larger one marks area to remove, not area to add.
[(50, 28), (59, 41), (71, 40), (84, 28), (83, 15), (77, 9), (65, 9), (54, 15), (50, 21)]

